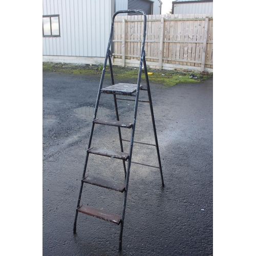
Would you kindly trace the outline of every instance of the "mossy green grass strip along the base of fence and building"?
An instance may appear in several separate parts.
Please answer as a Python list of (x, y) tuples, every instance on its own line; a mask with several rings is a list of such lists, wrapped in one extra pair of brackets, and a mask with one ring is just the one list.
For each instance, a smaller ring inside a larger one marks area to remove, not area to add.
[[(50, 72), (59, 72), (65, 74), (77, 74), (77, 75), (101, 75), (103, 65), (74, 65), (69, 63), (53, 63), (53, 62), (43, 62), (42, 70)], [(119, 67), (113, 66), (113, 73), (115, 81), (129, 80), (129, 82), (136, 82), (138, 78), (138, 68), (130, 67)], [(210, 77), (213, 77), (212, 73), (209, 75), (204, 75), (200, 78), (200, 73), (195, 72), (185, 72), (185, 71), (166, 71), (166, 70), (153, 70), (148, 68), (147, 72), (153, 73), (148, 75), (150, 82), (161, 83), (166, 86), (174, 86), (177, 83), (198, 83), (202, 82)], [(190, 74), (194, 73), (198, 79), (189, 78)], [(109, 67), (106, 67), (105, 77), (110, 77)], [(145, 82), (145, 75), (142, 72), (141, 75), (142, 82)]]

